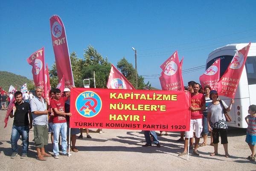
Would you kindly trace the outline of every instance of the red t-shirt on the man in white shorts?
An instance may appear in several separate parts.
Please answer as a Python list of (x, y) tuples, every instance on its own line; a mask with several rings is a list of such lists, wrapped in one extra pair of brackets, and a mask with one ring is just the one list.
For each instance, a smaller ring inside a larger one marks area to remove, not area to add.
[[(205, 104), (205, 97), (202, 93), (198, 93), (198, 95), (194, 95), (191, 93), (191, 106), (198, 108), (202, 107), (202, 104)], [(191, 111), (191, 119), (202, 119), (203, 118), (203, 110)]]

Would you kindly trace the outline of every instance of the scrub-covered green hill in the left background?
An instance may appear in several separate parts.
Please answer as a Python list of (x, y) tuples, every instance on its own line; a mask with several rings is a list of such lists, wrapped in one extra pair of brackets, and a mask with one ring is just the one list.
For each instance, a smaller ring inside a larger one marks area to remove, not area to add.
[(25, 83), (28, 85), (33, 83), (33, 81), (24, 76), (13, 74), (12, 72), (0, 71), (0, 87), (3, 86), (5, 91), (9, 90), (10, 85), (17, 87), (17, 90), (20, 91), (20, 87)]

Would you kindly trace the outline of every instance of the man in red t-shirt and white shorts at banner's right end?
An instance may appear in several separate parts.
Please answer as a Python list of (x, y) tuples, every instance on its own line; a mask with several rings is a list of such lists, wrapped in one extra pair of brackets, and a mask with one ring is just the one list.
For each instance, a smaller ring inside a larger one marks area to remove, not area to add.
[(194, 93), (191, 93), (191, 106), (189, 110), (191, 110), (191, 118), (190, 118), (190, 131), (185, 131), (185, 143), (184, 143), (184, 151), (179, 154), (179, 156), (188, 154), (188, 145), (189, 138), (193, 137), (193, 131), (195, 127), (195, 149), (193, 154), (199, 156), (197, 152), (200, 135), (203, 130), (202, 126), (202, 118), (203, 118), (203, 110), (205, 109), (205, 97), (204, 94), (199, 93), (200, 84), (195, 83), (193, 86)]

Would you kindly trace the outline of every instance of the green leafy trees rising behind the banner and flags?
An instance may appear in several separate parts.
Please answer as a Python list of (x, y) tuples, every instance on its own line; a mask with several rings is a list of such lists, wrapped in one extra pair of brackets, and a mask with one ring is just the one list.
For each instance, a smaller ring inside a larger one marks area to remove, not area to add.
[[(93, 78), (93, 71), (95, 71), (96, 88), (106, 88), (111, 63), (108, 62), (108, 57), (102, 58), (102, 55), (93, 46), (89, 45), (87, 49), (84, 49), (84, 59), (78, 58), (74, 51), (70, 53), (70, 62), (76, 87), (84, 87), (83, 80)], [(136, 70), (131, 63), (128, 63), (125, 57), (118, 62), (117, 68), (136, 87)], [(58, 74), (55, 62), (52, 65), (52, 69), (49, 70), (49, 76), (51, 86), (57, 87)], [(151, 86), (149, 82), (147, 84), (144, 83), (142, 76), (138, 77), (138, 89), (142, 89), (145, 85)], [(93, 80), (90, 80), (90, 87), (94, 88)]]

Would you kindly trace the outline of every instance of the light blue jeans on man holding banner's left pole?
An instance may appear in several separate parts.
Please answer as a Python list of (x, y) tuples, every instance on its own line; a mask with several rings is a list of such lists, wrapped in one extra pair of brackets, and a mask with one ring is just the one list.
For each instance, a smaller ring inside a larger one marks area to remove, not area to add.
[(53, 127), (53, 154), (58, 155), (58, 139), (61, 133), (61, 151), (62, 154), (67, 154), (67, 123), (52, 124)]

